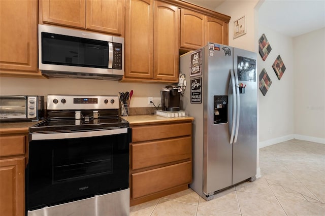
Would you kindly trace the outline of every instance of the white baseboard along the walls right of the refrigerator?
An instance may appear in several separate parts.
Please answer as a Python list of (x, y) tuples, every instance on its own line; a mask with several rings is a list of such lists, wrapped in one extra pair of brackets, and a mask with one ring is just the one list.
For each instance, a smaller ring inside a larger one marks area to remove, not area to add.
[(290, 140), (290, 139), (300, 139), (300, 140), (325, 144), (325, 138), (304, 136), (304, 135), (299, 135), (299, 134), (289, 134), (289, 135), (286, 135), (286, 136), (281, 136), (281, 137), (277, 137), (277, 138), (274, 138), (274, 139), (269, 139), (269, 140), (266, 140), (266, 141), (259, 142), (259, 149), (267, 147), (267, 146), (272, 146), (274, 144), (284, 142), (284, 141), (287, 141), (287, 140)]

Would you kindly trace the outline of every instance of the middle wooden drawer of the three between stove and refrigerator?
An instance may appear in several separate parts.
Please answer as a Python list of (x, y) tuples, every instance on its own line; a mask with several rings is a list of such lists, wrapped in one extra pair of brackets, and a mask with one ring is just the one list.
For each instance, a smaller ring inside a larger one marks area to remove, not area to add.
[(191, 159), (190, 136), (131, 145), (132, 169)]

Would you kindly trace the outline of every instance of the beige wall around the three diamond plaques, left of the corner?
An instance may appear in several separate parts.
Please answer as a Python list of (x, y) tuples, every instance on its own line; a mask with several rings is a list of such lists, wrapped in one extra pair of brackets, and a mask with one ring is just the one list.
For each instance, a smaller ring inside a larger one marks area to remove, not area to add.
[[(258, 54), (258, 74), (265, 68), (272, 84), (264, 96), (259, 90), (259, 142), (260, 147), (267, 146), (265, 142), (273, 140), (280, 142), (294, 138), (294, 60), (293, 39), (281, 33), (258, 26), (258, 35), (265, 34), (272, 50), (265, 61)], [(272, 65), (280, 55), (286, 67), (281, 80), (278, 80)], [(273, 143), (272, 143), (273, 144)]]

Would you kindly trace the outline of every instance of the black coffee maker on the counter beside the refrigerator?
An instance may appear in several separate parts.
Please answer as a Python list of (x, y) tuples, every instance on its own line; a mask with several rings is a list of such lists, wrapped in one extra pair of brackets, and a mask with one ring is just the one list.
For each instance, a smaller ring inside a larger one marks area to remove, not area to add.
[(179, 111), (181, 90), (177, 86), (166, 86), (160, 90), (161, 110)]

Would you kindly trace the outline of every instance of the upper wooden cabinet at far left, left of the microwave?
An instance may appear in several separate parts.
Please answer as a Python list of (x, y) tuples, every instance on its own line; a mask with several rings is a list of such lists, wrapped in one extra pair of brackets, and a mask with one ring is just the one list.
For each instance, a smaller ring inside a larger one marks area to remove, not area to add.
[(0, 1), (1, 75), (40, 76), (37, 70), (37, 7), (37, 1)]

